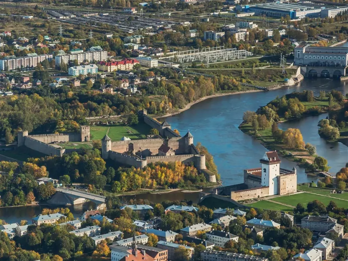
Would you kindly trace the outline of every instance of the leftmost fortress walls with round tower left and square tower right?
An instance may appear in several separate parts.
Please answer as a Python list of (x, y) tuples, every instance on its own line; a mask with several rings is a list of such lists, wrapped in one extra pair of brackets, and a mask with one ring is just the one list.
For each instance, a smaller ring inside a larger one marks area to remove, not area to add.
[(85, 142), (90, 140), (89, 126), (81, 125), (80, 132), (28, 135), (27, 130), (18, 132), (17, 146), (25, 146), (49, 156), (60, 156), (78, 149), (64, 149), (59, 143)]

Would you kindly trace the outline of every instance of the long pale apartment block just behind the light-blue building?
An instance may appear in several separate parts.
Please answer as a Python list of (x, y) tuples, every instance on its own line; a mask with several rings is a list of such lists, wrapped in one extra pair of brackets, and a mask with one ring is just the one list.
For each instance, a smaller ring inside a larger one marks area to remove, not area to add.
[(55, 64), (56, 66), (60, 66), (61, 63), (67, 64), (69, 61), (77, 60), (78, 63), (82, 63), (85, 61), (106, 61), (108, 60), (108, 52), (103, 50), (97, 51), (89, 51), (82, 53), (73, 53), (73, 54), (64, 54), (64, 55), (56, 55), (55, 56)]

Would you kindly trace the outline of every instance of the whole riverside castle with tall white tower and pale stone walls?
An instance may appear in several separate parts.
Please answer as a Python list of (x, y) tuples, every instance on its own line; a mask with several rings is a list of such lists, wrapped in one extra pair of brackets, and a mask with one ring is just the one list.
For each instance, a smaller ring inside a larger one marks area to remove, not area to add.
[[(244, 169), (244, 183), (220, 187), (214, 193), (220, 196), (230, 195), (232, 200), (241, 201), (272, 195), (288, 195), (297, 191), (296, 168), (280, 168), (277, 151), (266, 152), (260, 159), (261, 167)], [(236, 188), (247, 188), (236, 190)]]

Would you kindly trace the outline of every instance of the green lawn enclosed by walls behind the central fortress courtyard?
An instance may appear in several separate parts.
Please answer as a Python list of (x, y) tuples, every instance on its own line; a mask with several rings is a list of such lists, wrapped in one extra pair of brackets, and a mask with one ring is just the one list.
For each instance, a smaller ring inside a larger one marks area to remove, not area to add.
[(101, 140), (108, 132), (108, 136), (111, 140), (120, 141), (123, 136), (129, 137), (131, 140), (145, 139), (146, 135), (150, 132), (150, 126), (139, 122), (139, 124), (134, 126), (122, 126), (122, 125), (112, 125), (112, 126), (90, 126), (90, 136), (91, 140)]

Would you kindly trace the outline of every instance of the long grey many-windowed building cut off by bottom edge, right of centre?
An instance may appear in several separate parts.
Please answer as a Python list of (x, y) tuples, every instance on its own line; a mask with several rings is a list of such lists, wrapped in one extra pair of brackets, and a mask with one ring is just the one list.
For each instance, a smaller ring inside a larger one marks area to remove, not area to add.
[(201, 261), (268, 261), (267, 258), (261, 258), (253, 255), (243, 255), (224, 251), (203, 250), (200, 252)]

